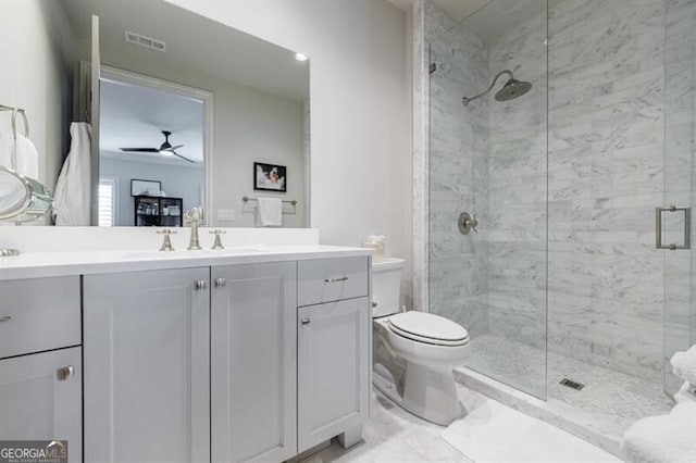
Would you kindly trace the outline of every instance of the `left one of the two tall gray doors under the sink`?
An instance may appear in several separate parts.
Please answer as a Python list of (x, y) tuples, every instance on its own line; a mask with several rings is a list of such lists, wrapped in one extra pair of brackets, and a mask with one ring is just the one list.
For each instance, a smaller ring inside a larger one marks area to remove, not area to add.
[(210, 461), (209, 275), (84, 277), (86, 461)]

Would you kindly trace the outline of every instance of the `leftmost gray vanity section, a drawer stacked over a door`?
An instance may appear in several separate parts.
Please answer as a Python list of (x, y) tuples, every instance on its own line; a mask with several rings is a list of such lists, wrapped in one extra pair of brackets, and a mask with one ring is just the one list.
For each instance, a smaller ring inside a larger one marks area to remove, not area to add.
[(79, 277), (0, 281), (0, 440), (67, 440), (82, 461)]

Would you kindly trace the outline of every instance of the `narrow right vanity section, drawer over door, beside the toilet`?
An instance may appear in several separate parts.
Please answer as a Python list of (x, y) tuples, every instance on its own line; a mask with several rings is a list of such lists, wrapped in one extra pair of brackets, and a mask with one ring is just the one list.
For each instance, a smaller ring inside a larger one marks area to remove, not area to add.
[(368, 258), (298, 262), (298, 451), (338, 436), (357, 443), (369, 417), (372, 320)]

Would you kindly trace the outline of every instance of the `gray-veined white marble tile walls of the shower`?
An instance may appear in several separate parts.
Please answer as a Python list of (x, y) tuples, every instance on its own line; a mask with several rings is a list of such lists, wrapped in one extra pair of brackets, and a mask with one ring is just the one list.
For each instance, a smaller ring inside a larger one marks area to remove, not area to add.
[[(667, 2), (667, 68), (663, 0), (549, 2), (546, 331), (545, 243), (543, 227), (535, 226), (545, 222), (539, 205), (546, 200), (546, 171), (537, 154), (539, 137), (546, 134), (532, 129), (535, 136), (515, 138), (527, 116), (532, 120), (525, 123), (540, 127), (537, 115), (544, 109), (534, 104), (538, 99), (533, 93), (526, 102), (527, 96), (501, 107), (480, 102), (470, 112), (461, 111), (458, 101), (472, 88), (486, 88), (498, 67), (512, 67), (517, 77), (535, 84), (533, 91), (540, 89), (539, 57), (521, 60), (521, 52), (543, 27), (523, 25), (492, 45), (473, 35), (457, 36), (457, 29), (435, 40), (434, 32), (447, 29), (449, 20), (430, 2), (420, 2), (426, 40), (445, 61), (457, 63), (450, 68), (438, 63), (431, 82), (431, 93), (437, 96), (431, 101), (431, 111), (436, 111), (430, 116), (430, 188), (425, 183), (431, 312), (462, 323), (474, 336), (490, 330), (537, 345), (535, 340), (548, 334), (548, 349), (555, 353), (661, 380), (666, 251), (655, 249), (654, 208), (664, 202), (666, 175), (673, 185), (673, 179), (694, 174), (688, 147), (696, 130), (694, 108), (687, 104), (694, 89), (689, 66), (695, 61), (696, 18), (691, 15), (696, 2)], [(515, 34), (508, 47), (520, 40), (522, 45), (506, 49), (504, 43)], [(450, 40), (449, 48), (446, 40), (439, 43), (444, 38)], [(455, 55), (457, 60), (450, 60)], [(465, 67), (455, 70), (460, 65)], [(452, 98), (440, 98), (445, 92)], [(427, 104), (427, 93), (422, 101)], [(484, 168), (474, 160), (486, 155)], [(670, 196), (678, 202), (694, 201), (691, 183), (687, 189), (668, 190), (668, 200)], [(462, 241), (453, 230), (455, 220), (469, 204), (490, 232)], [(529, 228), (519, 227), (520, 217)], [(520, 247), (523, 242), (529, 247)], [(696, 268), (693, 256), (685, 254), (682, 260), (668, 258), (667, 264), (669, 352), (672, 339), (680, 348), (688, 342), (688, 323), (691, 336), (696, 333), (696, 309), (685, 299), (696, 289), (689, 276), (689, 268)], [(486, 277), (478, 279), (482, 274)], [(522, 286), (526, 289), (520, 295)], [(670, 312), (670, 298), (676, 311)], [(680, 311), (688, 302), (692, 313)]]

